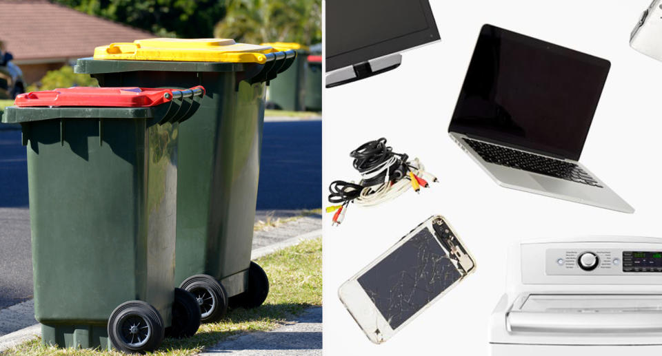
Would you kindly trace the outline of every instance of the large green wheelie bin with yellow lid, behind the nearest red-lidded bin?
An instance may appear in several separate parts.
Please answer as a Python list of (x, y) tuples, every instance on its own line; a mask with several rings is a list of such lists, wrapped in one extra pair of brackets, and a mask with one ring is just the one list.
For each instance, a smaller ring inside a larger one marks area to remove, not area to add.
[(149, 39), (97, 48), (74, 68), (100, 85), (205, 87), (179, 127), (174, 281), (197, 297), (203, 322), (268, 295), (267, 275), (250, 261), (265, 87), (296, 56), (226, 39)]

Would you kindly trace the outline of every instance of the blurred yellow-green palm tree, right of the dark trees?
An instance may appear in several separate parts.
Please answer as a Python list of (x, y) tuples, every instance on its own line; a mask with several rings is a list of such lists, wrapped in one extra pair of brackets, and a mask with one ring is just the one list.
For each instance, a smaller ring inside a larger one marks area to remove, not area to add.
[(321, 42), (321, 0), (226, 0), (217, 38), (245, 43)]

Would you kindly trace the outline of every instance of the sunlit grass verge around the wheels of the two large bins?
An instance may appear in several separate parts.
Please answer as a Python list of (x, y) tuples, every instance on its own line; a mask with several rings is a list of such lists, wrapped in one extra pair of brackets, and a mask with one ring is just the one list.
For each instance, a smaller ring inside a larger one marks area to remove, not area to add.
[[(286, 322), (303, 309), (322, 304), (322, 242), (307, 240), (266, 255), (256, 261), (270, 280), (269, 297), (259, 308), (234, 309), (223, 322), (202, 325), (189, 339), (165, 339), (159, 350), (148, 355), (189, 356), (200, 353), (232, 335), (268, 331)], [(34, 339), (2, 353), (3, 356), (121, 356), (116, 351), (80, 350), (43, 346)]]

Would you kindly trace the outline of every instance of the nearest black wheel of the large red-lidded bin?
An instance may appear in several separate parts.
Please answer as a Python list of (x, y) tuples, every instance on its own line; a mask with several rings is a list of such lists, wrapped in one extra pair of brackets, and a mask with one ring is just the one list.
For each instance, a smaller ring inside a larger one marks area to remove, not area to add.
[(125, 353), (153, 351), (163, 342), (163, 319), (154, 306), (132, 300), (117, 306), (108, 318), (108, 338)]

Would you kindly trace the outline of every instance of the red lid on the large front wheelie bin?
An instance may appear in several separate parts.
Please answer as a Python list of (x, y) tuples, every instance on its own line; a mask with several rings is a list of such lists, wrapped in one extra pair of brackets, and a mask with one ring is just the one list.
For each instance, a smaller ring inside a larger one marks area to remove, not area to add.
[[(204, 90), (201, 86), (192, 87), (191, 90), (198, 88)], [(177, 90), (147, 87), (70, 87), (20, 94), (14, 100), (14, 105), (150, 107), (171, 101), (173, 91)]]

